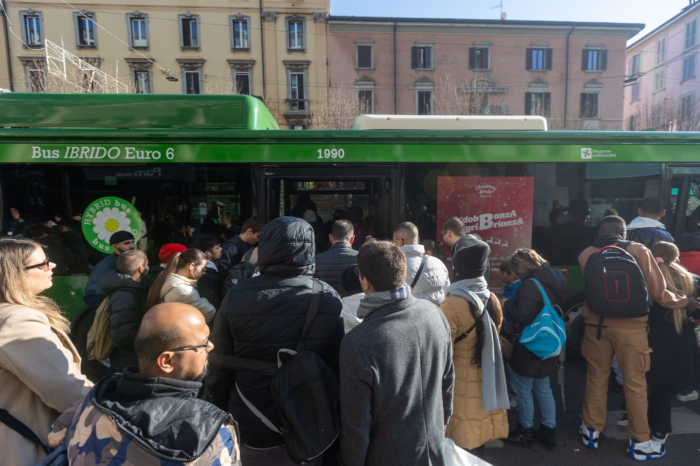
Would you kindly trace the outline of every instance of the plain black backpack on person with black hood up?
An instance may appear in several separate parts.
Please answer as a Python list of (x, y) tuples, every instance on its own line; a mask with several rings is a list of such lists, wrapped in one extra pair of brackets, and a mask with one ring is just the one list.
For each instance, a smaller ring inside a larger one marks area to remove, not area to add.
[(314, 280), (311, 302), (296, 351), (281, 349), (277, 363), (210, 354), (209, 362), (243, 372), (272, 376), (272, 400), (282, 425), (274, 425), (244, 397), (235, 383), (241, 400), (268, 428), (284, 439), (284, 448), (294, 463), (304, 465), (327, 450), (340, 433), (340, 380), (320, 356), (303, 351), (304, 337), (318, 315), (321, 283)]

